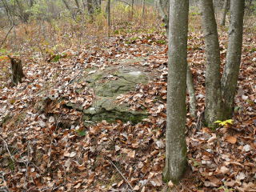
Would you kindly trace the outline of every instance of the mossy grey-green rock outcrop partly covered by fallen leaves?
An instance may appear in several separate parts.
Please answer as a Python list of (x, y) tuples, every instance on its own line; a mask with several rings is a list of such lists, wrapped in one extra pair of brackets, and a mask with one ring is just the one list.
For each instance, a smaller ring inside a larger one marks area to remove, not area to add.
[(146, 111), (130, 110), (126, 104), (118, 104), (117, 97), (134, 91), (136, 85), (149, 82), (149, 75), (134, 66), (109, 67), (105, 70), (88, 71), (85, 81), (94, 90), (95, 98), (90, 108), (83, 110), (86, 122), (142, 122)]

